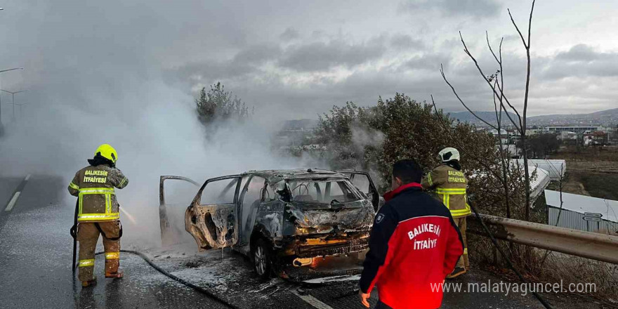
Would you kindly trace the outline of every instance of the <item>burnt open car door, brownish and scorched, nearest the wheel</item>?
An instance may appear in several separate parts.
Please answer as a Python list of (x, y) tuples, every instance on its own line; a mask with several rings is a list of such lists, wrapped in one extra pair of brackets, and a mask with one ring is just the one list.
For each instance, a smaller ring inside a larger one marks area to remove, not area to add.
[(199, 251), (233, 246), (238, 242), (238, 195), (241, 175), (206, 180), (185, 211), (185, 230)]

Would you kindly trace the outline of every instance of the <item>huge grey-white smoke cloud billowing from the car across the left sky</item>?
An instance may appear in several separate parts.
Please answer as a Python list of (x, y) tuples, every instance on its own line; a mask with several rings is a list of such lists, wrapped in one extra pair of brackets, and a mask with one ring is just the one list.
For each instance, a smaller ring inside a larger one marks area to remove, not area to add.
[[(173, 50), (178, 46), (161, 40), (178, 32), (169, 28), (170, 22), (178, 26), (183, 20), (157, 17), (188, 11), (189, 6), (178, 4), (176, 11), (168, 12), (162, 4), (150, 5), (150, 1), (136, 7), (121, 1), (116, 4), (122, 5), (23, 1), (4, 20), (24, 27), (20, 40), (0, 30), (17, 44), (3, 52), (4, 59), (22, 63), (27, 70), (3, 74), (2, 88), (27, 88), (29, 92), (18, 94), (16, 101), (23, 98), (29, 104), (22, 107), (23, 117), (18, 115), (15, 122), (10, 121), (10, 110), (2, 110), (2, 176), (60, 176), (63, 183), (59, 187), (66, 190), (96, 147), (109, 143), (118, 151), (117, 167), (130, 180), (128, 187), (117, 190), (118, 200), (136, 218), (131, 223), (121, 215), (124, 242), (156, 245), (159, 176), (188, 176), (202, 183), (250, 169), (298, 167), (298, 162), (270, 151), (277, 121), (255, 117), (206, 130), (197, 121), (190, 85), (166, 81), (165, 66), (173, 63)], [(199, 11), (202, 17), (214, 15)], [(197, 19), (190, 13), (188, 17)], [(195, 25), (197, 33), (175, 42), (195, 39), (195, 48), (208, 51), (204, 42), (211, 34), (200, 27), (206, 25)], [(232, 37), (230, 33), (228, 39)], [(163, 55), (169, 58), (162, 61)], [(3, 95), (3, 103), (8, 98)], [(183, 185), (171, 185), (170, 190), (169, 199), (178, 199), (181, 205), (175, 213), (183, 213), (197, 191)], [(74, 197), (66, 191), (61, 196), (65, 198), (60, 206), (72, 209)]]

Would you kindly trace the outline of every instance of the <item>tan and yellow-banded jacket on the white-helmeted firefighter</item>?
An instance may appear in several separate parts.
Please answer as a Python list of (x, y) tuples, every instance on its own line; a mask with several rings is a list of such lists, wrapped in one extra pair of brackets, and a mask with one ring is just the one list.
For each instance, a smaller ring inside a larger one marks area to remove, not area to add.
[(463, 172), (442, 164), (430, 171), (421, 181), (421, 185), (425, 190), (435, 188), (436, 197), (447, 206), (453, 218), (468, 216), (471, 213), (466, 196), (468, 179)]

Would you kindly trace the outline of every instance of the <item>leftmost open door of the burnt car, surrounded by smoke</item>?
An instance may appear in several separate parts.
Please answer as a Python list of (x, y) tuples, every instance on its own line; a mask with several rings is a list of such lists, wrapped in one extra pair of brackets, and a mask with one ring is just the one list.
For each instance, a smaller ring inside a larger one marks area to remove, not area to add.
[[(161, 228), (161, 242), (164, 246), (173, 244), (174, 242), (176, 242), (177, 239), (179, 239), (179, 236), (180, 236), (180, 229), (178, 228), (178, 225), (171, 225), (170, 224), (171, 220), (168, 216), (168, 206), (178, 207), (180, 205), (171, 204), (169, 201), (166, 201), (165, 199), (166, 180), (174, 180), (180, 183), (185, 183), (186, 185), (189, 185), (192, 188), (191, 190), (193, 190), (193, 192), (195, 192), (195, 189), (199, 187), (198, 183), (186, 177), (161, 176), (159, 180), (159, 228)], [(182, 184), (182, 185), (185, 185), (185, 184)], [(187, 204), (183, 204), (182, 206), (184, 208), (185, 206), (187, 206)]]

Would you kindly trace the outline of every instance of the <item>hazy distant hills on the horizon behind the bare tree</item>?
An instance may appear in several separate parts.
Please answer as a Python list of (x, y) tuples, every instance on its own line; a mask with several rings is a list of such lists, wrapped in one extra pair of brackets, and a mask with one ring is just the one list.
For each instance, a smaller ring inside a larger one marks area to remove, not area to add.
[[(490, 124), (497, 124), (495, 112), (474, 112)], [(513, 120), (517, 115), (509, 112)], [(461, 122), (482, 125), (482, 121), (476, 119), (470, 112), (452, 112), (450, 117)], [(502, 112), (502, 121), (505, 126), (511, 124), (506, 117), (506, 112)], [(590, 114), (548, 114), (541, 116), (528, 117), (528, 126), (563, 126), (563, 125), (604, 125), (614, 126), (618, 124), (618, 108), (591, 112)]]

